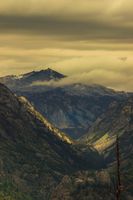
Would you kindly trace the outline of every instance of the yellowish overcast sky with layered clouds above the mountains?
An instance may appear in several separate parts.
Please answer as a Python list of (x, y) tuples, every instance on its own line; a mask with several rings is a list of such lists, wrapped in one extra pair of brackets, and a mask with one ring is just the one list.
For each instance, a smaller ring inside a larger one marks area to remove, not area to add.
[(133, 91), (133, 0), (1, 1), (0, 76), (47, 67)]

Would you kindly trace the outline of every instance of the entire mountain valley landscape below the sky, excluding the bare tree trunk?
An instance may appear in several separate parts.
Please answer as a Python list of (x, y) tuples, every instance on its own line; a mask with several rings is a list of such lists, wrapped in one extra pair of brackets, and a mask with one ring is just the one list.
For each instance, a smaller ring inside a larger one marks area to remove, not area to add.
[(132, 93), (51, 84), (65, 78), (51, 69), (0, 78), (0, 199), (114, 200), (118, 135), (121, 199), (131, 200)]

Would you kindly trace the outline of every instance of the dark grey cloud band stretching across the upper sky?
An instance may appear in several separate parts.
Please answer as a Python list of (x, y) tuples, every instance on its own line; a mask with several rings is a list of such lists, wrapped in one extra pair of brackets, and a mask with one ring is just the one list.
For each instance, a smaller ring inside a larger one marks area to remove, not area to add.
[(66, 20), (51, 16), (4, 16), (0, 15), (1, 33), (40, 34), (68, 40), (130, 39), (133, 27), (110, 24), (94, 19), (87, 21)]

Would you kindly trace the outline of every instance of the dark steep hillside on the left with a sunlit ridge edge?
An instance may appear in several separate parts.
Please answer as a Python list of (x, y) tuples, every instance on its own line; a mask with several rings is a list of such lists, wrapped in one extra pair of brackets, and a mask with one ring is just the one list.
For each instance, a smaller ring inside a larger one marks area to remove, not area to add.
[(102, 167), (96, 151), (54, 128), (29, 102), (0, 84), (0, 198), (47, 200), (65, 174)]

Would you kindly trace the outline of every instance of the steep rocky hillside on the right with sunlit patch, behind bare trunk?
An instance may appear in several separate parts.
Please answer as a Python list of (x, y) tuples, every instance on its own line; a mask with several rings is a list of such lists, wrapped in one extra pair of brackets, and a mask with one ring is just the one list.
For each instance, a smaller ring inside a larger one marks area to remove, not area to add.
[(89, 129), (82, 142), (91, 144), (101, 152), (109, 170), (116, 171), (116, 136), (120, 145), (120, 171), (124, 192), (132, 194), (133, 188), (133, 98), (114, 102)]

